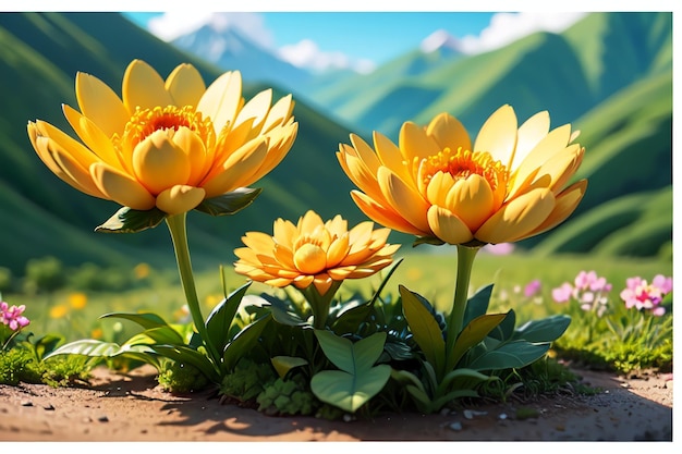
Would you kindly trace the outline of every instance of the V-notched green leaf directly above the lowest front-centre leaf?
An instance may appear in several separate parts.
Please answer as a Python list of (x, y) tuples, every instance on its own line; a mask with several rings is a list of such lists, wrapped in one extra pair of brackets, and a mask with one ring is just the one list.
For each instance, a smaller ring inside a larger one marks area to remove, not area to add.
[(339, 369), (351, 373), (363, 373), (379, 359), (386, 342), (386, 333), (377, 332), (356, 343), (340, 338), (330, 331), (315, 330), (325, 356)]

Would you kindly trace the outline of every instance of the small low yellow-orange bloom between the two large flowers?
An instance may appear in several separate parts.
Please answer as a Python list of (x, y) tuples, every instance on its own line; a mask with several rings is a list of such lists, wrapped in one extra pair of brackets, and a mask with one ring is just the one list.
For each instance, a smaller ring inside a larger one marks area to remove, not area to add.
[(389, 229), (373, 229), (374, 222), (367, 221), (349, 231), (341, 216), (322, 222), (312, 210), (295, 225), (278, 219), (273, 236), (248, 232), (242, 237), (247, 247), (234, 250), (240, 258), (234, 270), (277, 287), (314, 284), (324, 295), (333, 281), (365, 278), (393, 261), (400, 245), (386, 244)]

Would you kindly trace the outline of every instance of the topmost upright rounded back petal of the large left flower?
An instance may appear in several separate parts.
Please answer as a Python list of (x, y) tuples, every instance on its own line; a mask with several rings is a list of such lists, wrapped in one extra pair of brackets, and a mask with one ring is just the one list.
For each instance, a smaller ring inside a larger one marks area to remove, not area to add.
[(142, 60), (133, 60), (123, 75), (123, 103), (132, 113), (136, 108), (171, 106), (173, 98), (154, 68)]

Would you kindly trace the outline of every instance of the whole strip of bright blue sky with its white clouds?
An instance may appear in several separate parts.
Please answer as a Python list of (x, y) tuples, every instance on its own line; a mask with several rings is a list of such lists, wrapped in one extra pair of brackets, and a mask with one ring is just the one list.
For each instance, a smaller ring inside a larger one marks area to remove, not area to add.
[[(125, 10), (123, 10), (125, 11)], [(170, 40), (212, 22), (239, 28), (261, 47), (299, 66), (334, 65), (370, 71), (415, 49), (434, 32), (458, 38), (470, 53), (489, 50), (538, 29), (560, 32), (581, 13), (556, 12), (234, 12), (210, 9), (166, 13), (126, 12), (162, 39)]]

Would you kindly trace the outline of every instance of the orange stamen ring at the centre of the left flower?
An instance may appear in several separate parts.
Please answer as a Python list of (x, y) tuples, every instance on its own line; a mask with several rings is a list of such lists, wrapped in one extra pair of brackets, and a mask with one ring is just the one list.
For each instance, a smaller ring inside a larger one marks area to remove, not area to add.
[[(204, 119), (200, 112), (195, 112), (192, 106), (167, 106), (165, 108), (139, 109), (125, 124), (123, 137), (131, 146), (139, 144), (145, 137), (156, 131), (178, 131), (180, 127), (187, 127), (197, 134), (205, 145), (211, 147), (215, 142), (216, 132), (210, 119)], [(114, 137), (114, 143), (118, 142)]]

